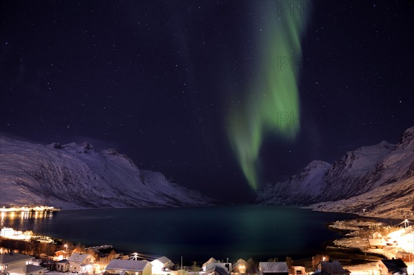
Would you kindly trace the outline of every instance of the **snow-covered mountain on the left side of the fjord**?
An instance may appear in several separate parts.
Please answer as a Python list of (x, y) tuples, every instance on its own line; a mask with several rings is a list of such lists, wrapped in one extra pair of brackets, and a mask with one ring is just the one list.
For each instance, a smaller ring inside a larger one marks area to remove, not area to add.
[(0, 205), (61, 209), (210, 205), (211, 198), (139, 170), (115, 149), (39, 145), (0, 136)]

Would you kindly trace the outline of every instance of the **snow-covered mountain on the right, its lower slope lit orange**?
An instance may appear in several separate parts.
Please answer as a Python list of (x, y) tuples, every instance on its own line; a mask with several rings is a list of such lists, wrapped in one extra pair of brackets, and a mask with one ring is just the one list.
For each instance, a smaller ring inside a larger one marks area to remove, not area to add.
[[(322, 211), (404, 216), (414, 210), (414, 126), (397, 145), (382, 141), (333, 165), (312, 161), (284, 183), (268, 183), (255, 203), (311, 205)], [(388, 216), (390, 217), (390, 216)]]

